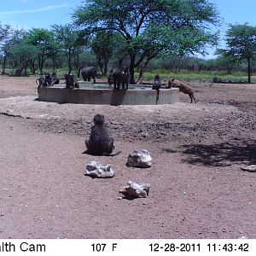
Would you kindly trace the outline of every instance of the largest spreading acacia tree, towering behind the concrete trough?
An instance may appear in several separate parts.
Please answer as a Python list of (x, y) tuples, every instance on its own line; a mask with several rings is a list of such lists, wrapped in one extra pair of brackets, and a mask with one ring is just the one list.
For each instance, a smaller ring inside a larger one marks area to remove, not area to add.
[(160, 53), (201, 52), (217, 40), (209, 25), (218, 23), (218, 13), (207, 0), (88, 0), (74, 11), (73, 20), (86, 32), (122, 36), (131, 83), (134, 68), (146, 67)]

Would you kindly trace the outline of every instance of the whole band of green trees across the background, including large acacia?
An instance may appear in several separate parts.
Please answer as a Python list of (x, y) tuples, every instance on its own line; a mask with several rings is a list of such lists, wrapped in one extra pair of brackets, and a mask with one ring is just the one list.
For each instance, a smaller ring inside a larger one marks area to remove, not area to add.
[[(96, 0), (81, 3), (73, 11), (73, 22), (50, 29), (14, 29), (0, 23), (2, 74), (9, 65), (16, 75), (43, 72), (46, 65), (65, 64), (68, 72), (95, 63), (103, 75), (109, 66), (126, 66), (135, 83), (146, 68), (224, 70), (230, 73), (247, 65), (251, 82), (256, 54), (256, 27), (231, 25), (226, 49), (218, 49), (216, 60), (195, 57), (218, 44), (221, 18), (207, 0)], [(1, 20), (0, 20), (1, 21)]]

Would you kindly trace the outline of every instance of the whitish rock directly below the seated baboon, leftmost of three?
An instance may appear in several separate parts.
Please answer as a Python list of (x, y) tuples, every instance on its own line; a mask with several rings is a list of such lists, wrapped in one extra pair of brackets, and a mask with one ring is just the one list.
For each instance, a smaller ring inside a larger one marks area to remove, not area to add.
[(85, 175), (90, 177), (113, 177), (113, 169), (110, 165), (102, 166), (102, 164), (92, 161), (86, 166)]

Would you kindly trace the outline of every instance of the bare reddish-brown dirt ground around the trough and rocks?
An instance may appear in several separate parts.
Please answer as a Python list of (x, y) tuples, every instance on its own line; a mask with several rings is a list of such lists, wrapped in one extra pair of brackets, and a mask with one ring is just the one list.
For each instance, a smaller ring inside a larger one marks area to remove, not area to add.
[[(197, 84), (160, 106), (38, 102), (35, 78), (0, 76), (0, 238), (256, 238), (256, 85)], [(102, 113), (122, 153), (82, 154)], [(148, 149), (153, 166), (125, 166)], [(115, 176), (84, 176), (86, 164)], [(129, 181), (148, 198), (120, 200)]]

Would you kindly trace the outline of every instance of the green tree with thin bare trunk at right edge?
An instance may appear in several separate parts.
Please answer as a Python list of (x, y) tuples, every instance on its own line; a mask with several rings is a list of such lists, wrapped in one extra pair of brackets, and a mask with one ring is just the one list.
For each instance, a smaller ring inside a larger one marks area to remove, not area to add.
[(226, 32), (226, 49), (218, 49), (218, 55), (231, 56), (236, 60), (247, 61), (248, 83), (251, 83), (251, 62), (256, 55), (256, 27), (247, 23), (240, 25), (230, 24)]

